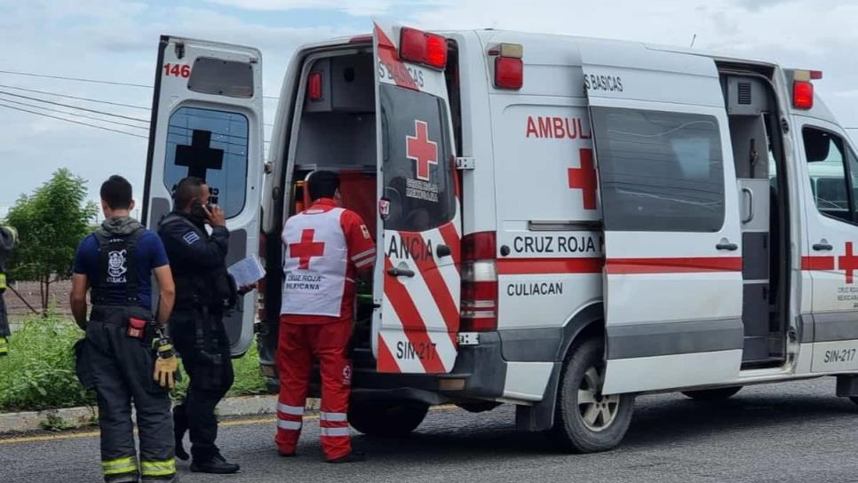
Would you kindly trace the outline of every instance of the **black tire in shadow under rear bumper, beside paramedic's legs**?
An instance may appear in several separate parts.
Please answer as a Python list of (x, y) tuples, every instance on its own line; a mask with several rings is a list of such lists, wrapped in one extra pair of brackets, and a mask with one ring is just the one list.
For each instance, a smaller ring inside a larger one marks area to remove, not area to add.
[(416, 430), (428, 411), (417, 401), (358, 402), (348, 409), (348, 423), (367, 436), (399, 438)]

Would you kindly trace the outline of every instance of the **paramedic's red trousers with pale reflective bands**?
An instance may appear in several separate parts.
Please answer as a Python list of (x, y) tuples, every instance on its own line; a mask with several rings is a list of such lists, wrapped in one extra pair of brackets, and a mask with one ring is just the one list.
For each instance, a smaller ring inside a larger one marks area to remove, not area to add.
[(280, 403), (277, 405), (277, 437), (281, 453), (294, 453), (304, 421), (307, 385), (313, 361), (322, 375), (322, 408), (319, 415), (322, 449), (331, 460), (352, 451), (348, 429), (348, 398), (352, 391), (352, 363), (347, 358), (352, 336), (350, 320), (296, 324), (280, 321), (277, 368)]

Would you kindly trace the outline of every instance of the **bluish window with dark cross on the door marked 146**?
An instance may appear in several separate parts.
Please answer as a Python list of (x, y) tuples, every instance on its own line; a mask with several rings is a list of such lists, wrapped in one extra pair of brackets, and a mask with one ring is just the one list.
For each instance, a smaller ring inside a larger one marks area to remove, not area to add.
[(171, 116), (164, 160), (164, 186), (181, 178), (205, 179), (211, 202), (233, 218), (244, 208), (247, 190), (248, 121), (240, 114), (179, 107)]

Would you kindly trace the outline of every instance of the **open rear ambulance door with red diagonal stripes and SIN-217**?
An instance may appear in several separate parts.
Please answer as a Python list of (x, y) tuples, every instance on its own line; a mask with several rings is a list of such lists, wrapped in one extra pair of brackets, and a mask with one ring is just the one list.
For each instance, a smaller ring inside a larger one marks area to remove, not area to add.
[(379, 202), (372, 350), (379, 372), (448, 373), (457, 355), (461, 214), (447, 40), (376, 24), (373, 51)]

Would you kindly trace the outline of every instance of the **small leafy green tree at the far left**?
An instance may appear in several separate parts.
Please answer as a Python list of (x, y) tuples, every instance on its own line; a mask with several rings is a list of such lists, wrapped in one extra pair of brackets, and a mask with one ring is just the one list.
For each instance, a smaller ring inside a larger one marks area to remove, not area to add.
[(39, 282), (42, 314), (51, 302), (51, 284), (71, 278), (75, 249), (90, 232), (98, 206), (86, 202), (86, 180), (71, 171), (53, 173), (31, 195), (22, 194), (6, 214), (6, 224), (18, 229), (20, 243), (12, 252), (12, 280)]

